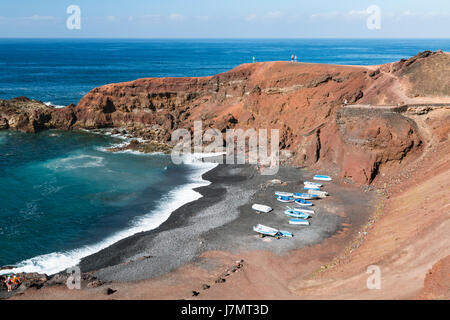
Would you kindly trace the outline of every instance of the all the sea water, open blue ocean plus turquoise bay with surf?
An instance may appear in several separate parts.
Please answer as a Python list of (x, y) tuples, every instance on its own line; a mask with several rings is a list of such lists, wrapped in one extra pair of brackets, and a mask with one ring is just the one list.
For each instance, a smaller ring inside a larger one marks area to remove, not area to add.
[[(239, 64), (289, 60), (374, 65), (450, 40), (0, 39), (0, 99), (76, 104), (96, 86), (142, 77), (208, 76)], [(200, 195), (212, 165), (109, 153), (119, 137), (0, 131), (0, 266), (54, 273), (165, 221)]]

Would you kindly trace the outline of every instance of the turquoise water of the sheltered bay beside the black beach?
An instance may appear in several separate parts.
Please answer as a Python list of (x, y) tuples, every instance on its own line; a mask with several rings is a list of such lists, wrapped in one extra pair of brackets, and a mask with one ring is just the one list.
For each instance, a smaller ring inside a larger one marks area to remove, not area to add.
[[(41, 256), (20, 266), (59, 271), (153, 229), (168, 208), (196, 197), (180, 186), (199, 184), (201, 168), (173, 166), (167, 155), (104, 149), (121, 142), (82, 132), (0, 132), (0, 266)], [(170, 198), (177, 188), (178, 196)], [(171, 205), (157, 210), (162, 199)], [(42, 257), (51, 253), (58, 254)]]

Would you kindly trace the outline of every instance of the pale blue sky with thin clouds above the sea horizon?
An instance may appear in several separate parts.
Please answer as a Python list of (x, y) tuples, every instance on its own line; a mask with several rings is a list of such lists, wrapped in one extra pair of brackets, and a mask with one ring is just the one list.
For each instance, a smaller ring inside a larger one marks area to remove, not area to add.
[(2, 0), (0, 37), (450, 38), (450, 1)]

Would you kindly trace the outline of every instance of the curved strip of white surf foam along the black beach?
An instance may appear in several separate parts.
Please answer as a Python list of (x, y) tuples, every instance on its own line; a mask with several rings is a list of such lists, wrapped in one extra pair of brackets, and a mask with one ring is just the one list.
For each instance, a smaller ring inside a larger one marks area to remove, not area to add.
[(190, 177), (191, 181), (188, 184), (170, 191), (160, 200), (159, 205), (155, 209), (148, 214), (135, 219), (130, 228), (117, 232), (102, 242), (91, 246), (84, 246), (68, 252), (53, 252), (24, 260), (18, 263), (14, 269), (0, 271), (0, 274), (20, 272), (38, 272), (46, 273), (48, 275), (55, 274), (77, 265), (82, 258), (107, 248), (121, 239), (139, 232), (156, 229), (166, 221), (176, 209), (202, 197), (200, 193), (193, 189), (207, 186), (211, 183), (203, 180), (202, 175), (215, 168), (217, 164), (196, 161), (196, 159), (202, 157), (204, 157), (204, 155), (201, 154), (195, 154), (188, 157), (187, 162), (191, 162), (190, 166), (194, 168)]

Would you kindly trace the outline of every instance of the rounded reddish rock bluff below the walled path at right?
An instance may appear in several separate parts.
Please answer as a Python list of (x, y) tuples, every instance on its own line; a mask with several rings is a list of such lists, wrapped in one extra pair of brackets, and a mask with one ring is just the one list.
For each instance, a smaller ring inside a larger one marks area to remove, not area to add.
[(343, 108), (337, 115), (343, 178), (370, 183), (381, 166), (400, 164), (421, 146), (416, 124), (398, 113)]

